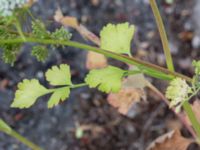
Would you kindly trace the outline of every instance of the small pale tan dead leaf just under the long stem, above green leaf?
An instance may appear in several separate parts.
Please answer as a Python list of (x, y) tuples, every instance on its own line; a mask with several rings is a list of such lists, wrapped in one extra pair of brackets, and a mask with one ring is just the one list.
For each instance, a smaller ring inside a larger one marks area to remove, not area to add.
[(87, 60), (86, 60), (86, 67), (87, 69), (98, 69), (106, 67), (107, 59), (104, 55), (95, 53), (95, 52), (88, 52), (87, 53)]

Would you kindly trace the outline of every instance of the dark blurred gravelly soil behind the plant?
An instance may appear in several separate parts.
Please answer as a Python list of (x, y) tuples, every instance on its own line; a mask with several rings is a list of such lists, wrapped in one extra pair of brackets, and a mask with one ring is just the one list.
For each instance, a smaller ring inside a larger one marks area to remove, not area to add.
[[(107, 23), (129, 22), (137, 31), (132, 54), (165, 66), (160, 37), (148, 0), (38, 0), (32, 7), (35, 15), (45, 20), (50, 30), (60, 25), (53, 15), (60, 6), (65, 15), (75, 16), (89, 30), (99, 35)], [(168, 32), (176, 71), (192, 76), (191, 62), (200, 57), (200, 23), (198, 0), (174, 0), (167, 4), (157, 0)], [(73, 40), (87, 43), (76, 31)], [(89, 43), (91, 44), (91, 43)], [(19, 133), (46, 150), (144, 150), (156, 137), (179, 126), (177, 118), (164, 102), (147, 90), (147, 102), (141, 102), (129, 118), (120, 115), (106, 100), (107, 95), (88, 88), (73, 90), (62, 104), (47, 109), (47, 97), (30, 109), (10, 108), (16, 85), (24, 78), (38, 78), (43, 84), (44, 72), (52, 65), (71, 66), (74, 83), (83, 81), (87, 73), (86, 51), (71, 47), (51, 50), (45, 63), (30, 56), (30, 45), (23, 47), (14, 67), (0, 61), (0, 117)], [(119, 62), (115, 62), (120, 65)], [(164, 92), (166, 83), (149, 80)], [(78, 126), (89, 128), (77, 139)], [(184, 136), (190, 137), (185, 128)], [(17, 140), (0, 133), (0, 150), (27, 150)], [(191, 150), (199, 149), (191, 145)]]

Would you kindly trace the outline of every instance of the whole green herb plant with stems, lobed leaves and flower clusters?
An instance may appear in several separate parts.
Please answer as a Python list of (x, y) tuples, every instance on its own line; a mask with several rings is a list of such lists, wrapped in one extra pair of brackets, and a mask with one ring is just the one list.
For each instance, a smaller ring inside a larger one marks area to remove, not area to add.
[[(104, 26), (100, 32), (100, 47), (95, 47), (72, 41), (71, 33), (64, 27), (54, 32), (48, 31), (41, 20), (37, 20), (30, 15), (27, 7), (21, 8), (22, 10), (14, 10), (10, 16), (1, 16), (0, 48), (2, 49), (2, 58), (6, 63), (10, 63), (11, 65), (14, 65), (17, 55), (20, 52), (20, 47), (24, 43), (34, 43), (35, 45), (32, 48), (31, 54), (38, 61), (45, 61), (48, 57), (50, 47), (70, 46), (93, 51), (103, 54), (106, 57), (125, 62), (126, 64), (137, 66), (137, 70), (123, 70), (111, 65), (102, 69), (93, 69), (89, 71), (84, 82), (80, 84), (72, 83), (70, 67), (67, 64), (53, 66), (45, 73), (46, 80), (53, 88), (44, 87), (38, 79), (24, 79), (18, 84), (18, 89), (11, 107), (21, 109), (29, 108), (36, 103), (39, 97), (50, 95), (47, 106), (48, 108), (52, 108), (58, 105), (59, 102), (65, 101), (70, 96), (72, 89), (83, 86), (97, 88), (99, 91), (105, 93), (117, 93), (122, 87), (122, 80), (124, 78), (129, 75), (143, 73), (150, 77), (169, 81), (166, 98), (169, 99), (170, 108), (175, 108), (176, 113), (180, 113), (183, 108), (195, 131), (193, 136), (199, 142), (200, 123), (197, 121), (189, 100), (200, 90), (200, 61), (193, 61), (192, 65), (195, 68), (195, 74), (192, 78), (175, 72), (167, 34), (155, 0), (150, 0), (150, 5), (161, 36), (167, 68), (139, 60), (131, 55), (130, 48), (135, 26), (129, 25), (129, 23), (120, 23), (117, 25), (108, 24)], [(30, 32), (23, 31), (23, 24), (19, 21), (19, 15), (21, 13), (25, 16), (30, 15), (32, 17), (32, 30)], [(10, 131), (12, 131), (11, 128), (5, 122), (1, 121), (1, 124), (5, 127), (2, 130), (5, 129), (7, 134), (12, 135), (10, 134)], [(18, 137), (16, 138), (31, 147), (29, 142), (23, 141)]]

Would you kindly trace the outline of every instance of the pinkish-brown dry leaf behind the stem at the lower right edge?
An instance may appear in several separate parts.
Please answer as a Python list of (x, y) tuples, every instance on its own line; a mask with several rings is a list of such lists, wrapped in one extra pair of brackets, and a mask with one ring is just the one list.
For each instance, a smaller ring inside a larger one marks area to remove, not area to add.
[[(194, 103), (192, 104), (192, 110), (194, 111), (197, 120), (200, 122), (200, 102), (199, 100), (195, 100)], [(189, 125), (192, 125), (190, 122), (190, 119), (188, 118), (188, 116), (186, 115), (186, 122)]]

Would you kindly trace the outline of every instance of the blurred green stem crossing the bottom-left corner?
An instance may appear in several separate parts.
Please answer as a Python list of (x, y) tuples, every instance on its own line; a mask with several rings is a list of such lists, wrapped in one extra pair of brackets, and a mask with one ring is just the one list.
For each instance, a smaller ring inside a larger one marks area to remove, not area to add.
[(3, 121), (2, 119), (0, 119), (0, 131), (16, 138), (17, 140), (19, 140), (20, 142), (22, 142), (23, 144), (25, 144), (26, 146), (28, 146), (29, 148), (31, 148), (32, 150), (42, 150), (41, 147), (37, 146), (36, 144), (34, 144), (33, 142), (29, 141), (27, 138), (23, 137), (22, 135), (20, 135), (19, 133), (17, 133), (16, 131), (14, 131), (5, 121)]

